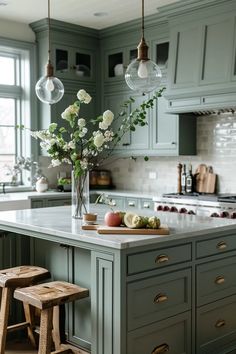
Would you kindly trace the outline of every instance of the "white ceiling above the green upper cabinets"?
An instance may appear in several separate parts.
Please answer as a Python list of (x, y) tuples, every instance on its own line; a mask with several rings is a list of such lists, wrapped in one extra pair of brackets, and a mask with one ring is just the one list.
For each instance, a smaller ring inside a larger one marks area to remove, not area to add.
[[(145, 0), (145, 16), (177, 1), (181, 0)], [(0, 20), (29, 24), (47, 17), (47, 7), (48, 0), (0, 0)], [(50, 8), (51, 18), (95, 29), (141, 17), (141, 0), (51, 0)]]

